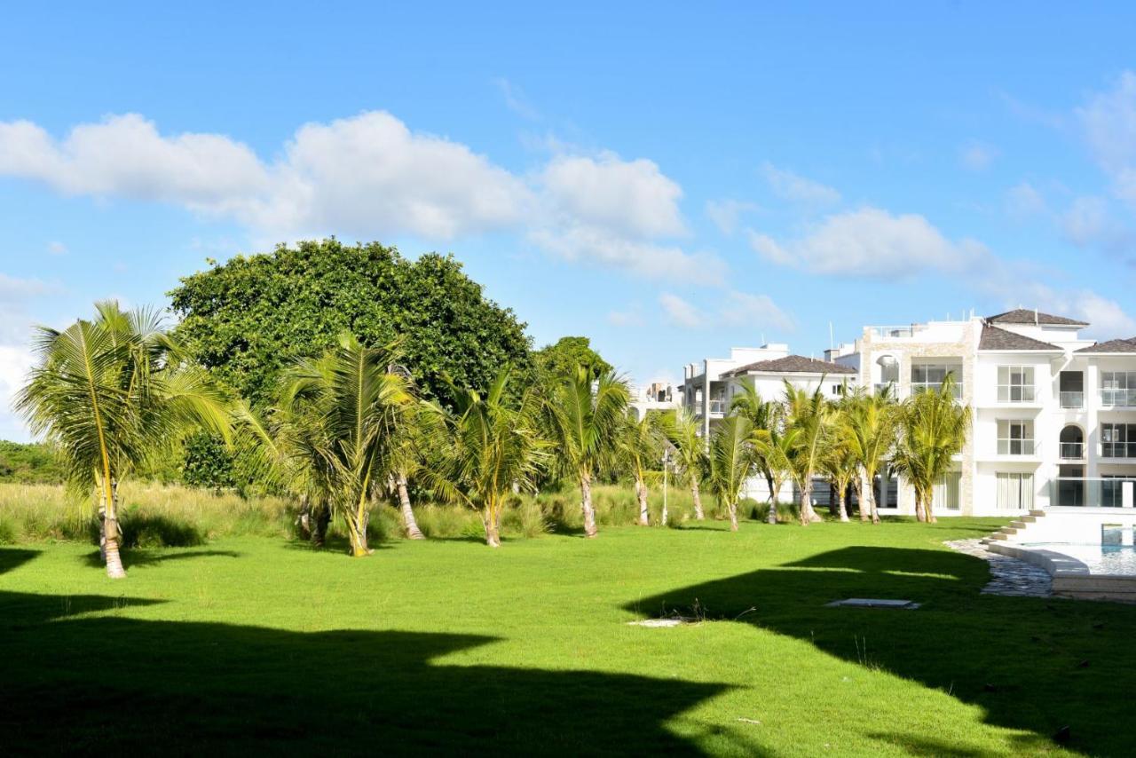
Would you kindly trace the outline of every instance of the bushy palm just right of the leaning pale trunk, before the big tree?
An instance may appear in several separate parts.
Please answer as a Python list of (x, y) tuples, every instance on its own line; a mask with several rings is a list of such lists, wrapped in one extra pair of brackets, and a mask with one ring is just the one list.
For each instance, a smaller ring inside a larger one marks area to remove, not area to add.
[(540, 435), (536, 395), (528, 391), (509, 402), (509, 375), (508, 367), (502, 369), (484, 397), (456, 390), (457, 413), (449, 417), (451, 466), (427, 472), (441, 495), (481, 513), (491, 548), (501, 547), (501, 510), (510, 492), (535, 489), (550, 445)]

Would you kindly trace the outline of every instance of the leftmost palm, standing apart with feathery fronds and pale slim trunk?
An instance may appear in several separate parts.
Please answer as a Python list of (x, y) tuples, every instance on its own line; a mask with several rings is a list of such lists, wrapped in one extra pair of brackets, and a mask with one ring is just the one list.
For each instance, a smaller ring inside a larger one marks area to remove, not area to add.
[(95, 310), (64, 331), (39, 327), (39, 364), (16, 408), (56, 444), (73, 490), (97, 488), (100, 549), (108, 576), (120, 578), (119, 482), (191, 428), (228, 439), (228, 417), (224, 395), (184, 360), (157, 311), (111, 301)]

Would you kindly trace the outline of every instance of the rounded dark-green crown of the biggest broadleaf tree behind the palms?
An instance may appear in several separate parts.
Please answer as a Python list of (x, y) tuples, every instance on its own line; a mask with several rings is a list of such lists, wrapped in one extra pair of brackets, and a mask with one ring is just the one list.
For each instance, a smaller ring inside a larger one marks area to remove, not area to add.
[(281, 370), (319, 355), (348, 331), (364, 344), (399, 341), (427, 397), (487, 386), (501, 366), (529, 364), (525, 324), (487, 300), (452, 256), (403, 258), (378, 243), (334, 239), (237, 256), (169, 293), (177, 336), (253, 406), (273, 399)]

